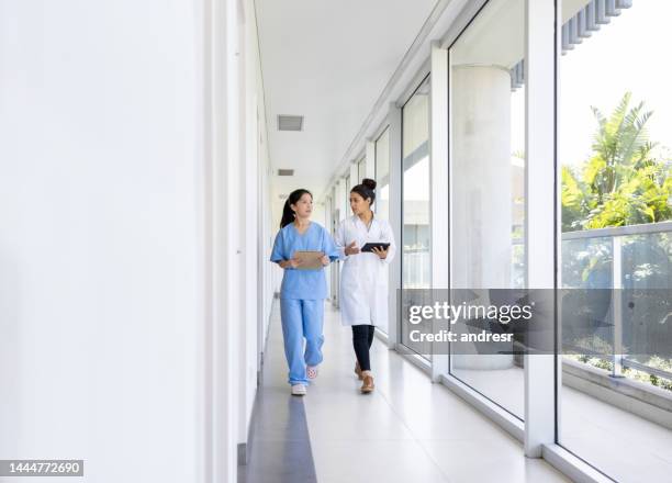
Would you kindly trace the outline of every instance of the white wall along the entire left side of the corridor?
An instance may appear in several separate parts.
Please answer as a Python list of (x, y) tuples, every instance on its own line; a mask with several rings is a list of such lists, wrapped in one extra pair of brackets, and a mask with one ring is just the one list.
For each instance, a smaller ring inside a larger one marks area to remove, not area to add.
[[(229, 16), (237, 3), (225, 2)], [(221, 92), (204, 87), (237, 76), (208, 67), (210, 4), (0, 0), (0, 458), (85, 459), (96, 482), (235, 476), (229, 457), (208, 464), (232, 453), (221, 443), (239, 437), (232, 420), (248, 425), (258, 348), (254, 318), (234, 332), (246, 342), (242, 401), (233, 379), (209, 389), (240, 369), (208, 367), (227, 359), (209, 348), (222, 312), (205, 306), (206, 250), (217, 250), (206, 120)], [(229, 42), (215, 50), (233, 56), (227, 18), (214, 16)], [(257, 79), (248, 89), (258, 96)], [(243, 159), (231, 138), (223, 146), (224, 161)]]

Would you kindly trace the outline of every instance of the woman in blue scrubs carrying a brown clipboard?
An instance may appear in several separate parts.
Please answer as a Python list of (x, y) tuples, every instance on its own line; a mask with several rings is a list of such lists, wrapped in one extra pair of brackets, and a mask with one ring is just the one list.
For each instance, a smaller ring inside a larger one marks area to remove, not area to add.
[[(304, 395), (309, 380), (317, 377), (322, 362), (324, 300), (327, 297), (324, 267), (338, 259), (338, 249), (324, 227), (311, 222), (313, 195), (293, 191), (282, 211), (270, 260), (284, 269), (280, 289), (280, 316), (284, 356), (292, 394)], [(296, 251), (321, 251), (323, 268), (302, 269)], [(305, 339), (305, 351), (303, 349)]]

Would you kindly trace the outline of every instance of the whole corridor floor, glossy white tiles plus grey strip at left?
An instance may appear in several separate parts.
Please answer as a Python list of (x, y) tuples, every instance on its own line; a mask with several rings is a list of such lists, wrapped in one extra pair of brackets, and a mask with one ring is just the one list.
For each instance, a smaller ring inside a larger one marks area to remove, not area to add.
[(278, 318), (273, 312), (243, 481), (570, 481), (525, 458), (515, 438), (380, 340), (376, 391), (360, 396), (349, 333), (334, 310), (324, 368), (305, 398), (288, 397)]

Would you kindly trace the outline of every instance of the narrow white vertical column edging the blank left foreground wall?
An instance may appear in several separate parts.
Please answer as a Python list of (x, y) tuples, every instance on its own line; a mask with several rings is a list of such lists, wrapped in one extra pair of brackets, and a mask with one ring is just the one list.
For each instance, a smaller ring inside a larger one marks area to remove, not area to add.
[[(239, 327), (231, 321), (242, 315), (242, 224), (239, 211), (239, 61), (238, 4), (212, 2), (212, 481), (233, 481), (237, 474), (239, 402)], [(217, 60), (222, 59), (222, 60)]]

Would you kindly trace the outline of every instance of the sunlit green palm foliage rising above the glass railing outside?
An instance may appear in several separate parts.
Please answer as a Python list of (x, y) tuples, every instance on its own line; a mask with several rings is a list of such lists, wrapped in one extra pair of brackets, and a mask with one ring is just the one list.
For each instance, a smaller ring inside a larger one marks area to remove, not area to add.
[(562, 231), (672, 220), (672, 159), (649, 142), (652, 115), (643, 102), (630, 108), (626, 92), (597, 122), (593, 155), (579, 169), (562, 167)]

